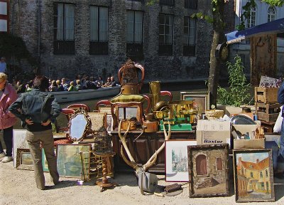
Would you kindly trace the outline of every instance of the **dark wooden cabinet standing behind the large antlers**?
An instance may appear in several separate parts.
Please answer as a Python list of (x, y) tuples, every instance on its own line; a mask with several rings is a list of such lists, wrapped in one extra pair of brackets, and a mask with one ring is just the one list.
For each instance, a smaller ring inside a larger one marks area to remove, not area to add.
[[(138, 138), (138, 140), (133, 142), (140, 133), (141, 132), (138, 131), (129, 132), (126, 137), (126, 143), (133, 158), (135, 159), (135, 162), (137, 164), (145, 164), (155, 153), (155, 150), (163, 144), (165, 137), (163, 131), (144, 133)], [(121, 132), (121, 135), (123, 134), (124, 132)], [(111, 135), (114, 152), (116, 152), (116, 155), (114, 156), (114, 171), (133, 171), (132, 167), (129, 167), (129, 165), (127, 165), (121, 157), (122, 144), (119, 139), (118, 131), (111, 132)], [(195, 131), (172, 131), (170, 140), (195, 140)], [(123, 147), (122, 149), (124, 150)], [(127, 156), (125, 150), (124, 155)], [(165, 149), (158, 154), (155, 164), (148, 170), (148, 172), (165, 172)]]

